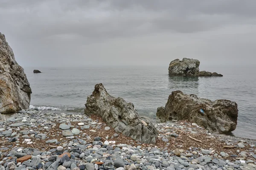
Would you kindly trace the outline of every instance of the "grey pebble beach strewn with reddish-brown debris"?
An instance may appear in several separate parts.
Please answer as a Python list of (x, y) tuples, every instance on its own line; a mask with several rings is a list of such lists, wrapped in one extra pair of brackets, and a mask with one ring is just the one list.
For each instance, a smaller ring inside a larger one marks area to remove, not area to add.
[[(61, 123), (66, 125), (62, 124), (63, 129), (67, 128), (68, 131), (70, 129), (71, 133), (66, 131), (68, 134), (64, 134), (64, 130), (59, 128)], [(20, 126), (10, 127), (17, 124)], [(88, 117), (82, 113), (55, 113), (55, 111), (23, 111), (17, 113), (15, 119), (0, 123), (0, 158), (2, 158), (0, 168), (10, 164), (10, 167), (22, 169), (35, 161), (42, 164), (38, 163), (39, 167), (48, 168), (47, 170), (57, 169), (60, 166), (63, 168), (64, 163), (61, 163), (61, 158), (58, 157), (63, 153), (70, 154), (69, 159), (74, 164), (76, 162), (77, 169), (83, 169), (83, 166), (113, 169), (117, 166), (114, 162), (118, 158), (121, 159), (118, 160), (125, 170), (130, 170), (131, 167), (145, 170), (171, 170), (175, 167), (185, 170), (218, 167), (256, 168), (253, 165), (256, 163), (256, 140), (241, 140), (238, 137), (211, 134), (203, 127), (186, 121), (158, 123), (155, 127), (160, 132), (157, 142), (143, 144), (121, 133), (116, 134), (112, 127), (108, 127), (96, 116)], [(10, 132), (6, 133), (6, 131)], [(7, 136), (3, 135), (3, 132)], [(224, 146), (233, 148), (223, 148)], [(108, 157), (104, 157), (105, 154), (108, 154)], [(25, 163), (17, 162), (18, 157), (27, 155), (32, 156), (24, 161)], [(52, 157), (56, 159), (52, 161), (50, 159)], [(88, 157), (91, 158), (90, 161)], [(10, 162), (15, 164), (11, 165)], [(46, 165), (55, 167), (51, 169)], [(34, 169), (40, 168), (34, 167)]]

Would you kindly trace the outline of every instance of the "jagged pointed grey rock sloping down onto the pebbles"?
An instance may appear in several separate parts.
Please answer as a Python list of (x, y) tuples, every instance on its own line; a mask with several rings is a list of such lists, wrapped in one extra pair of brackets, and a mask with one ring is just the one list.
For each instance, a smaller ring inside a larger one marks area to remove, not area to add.
[(139, 116), (132, 103), (109, 95), (101, 83), (95, 85), (93, 94), (87, 97), (85, 107), (85, 114), (101, 116), (108, 125), (115, 128), (116, 133), (130, 136), (138, 142), (156, 142), (158, 133), (154, 125)]

